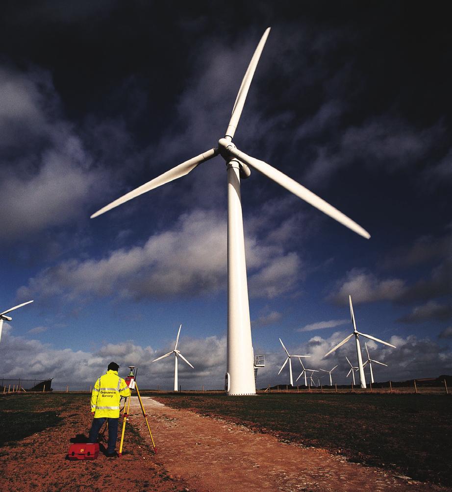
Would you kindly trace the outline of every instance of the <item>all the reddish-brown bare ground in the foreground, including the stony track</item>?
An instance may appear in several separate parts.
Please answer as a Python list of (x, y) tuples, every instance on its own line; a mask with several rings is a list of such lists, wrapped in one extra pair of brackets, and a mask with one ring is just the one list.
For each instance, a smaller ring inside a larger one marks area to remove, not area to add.
[(121, 458), (100, 455), (96, 461), (66, 460), (70, 438), (87, 435), (91, 425), (89, 409), (80, 404), (61, 414), (63, 425), (0, 448), (0, 490), (451, 491), (349, 463), (322, 449), (285, 444), (271, 435), (173, 409), (148, 397), (143, 401), (157, 455), (133, 398), (132, 427), (126, 431)]

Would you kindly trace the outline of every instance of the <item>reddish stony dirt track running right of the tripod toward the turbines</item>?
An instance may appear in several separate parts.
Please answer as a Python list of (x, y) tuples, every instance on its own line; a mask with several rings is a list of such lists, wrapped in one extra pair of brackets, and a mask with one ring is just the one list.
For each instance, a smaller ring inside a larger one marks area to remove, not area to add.
[[(138, 401), (130, 421), (143, 437)], [(379, 468), (350, 463), (323, 449), (278, 442), (221, 419), (203, 417), (143, 398), (158, 459), (169, 476), (198, 492), (451, 491)]]

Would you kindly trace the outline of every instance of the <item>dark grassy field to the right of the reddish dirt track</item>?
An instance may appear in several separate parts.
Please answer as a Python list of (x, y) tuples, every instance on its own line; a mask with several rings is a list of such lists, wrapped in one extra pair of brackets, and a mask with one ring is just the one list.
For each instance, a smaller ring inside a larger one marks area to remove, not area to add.
[(152, 396), (173, 407), (274, 434), (283, 441), (323, 447), (351, 461), (452, 485), (452, 398), (447, 395)]

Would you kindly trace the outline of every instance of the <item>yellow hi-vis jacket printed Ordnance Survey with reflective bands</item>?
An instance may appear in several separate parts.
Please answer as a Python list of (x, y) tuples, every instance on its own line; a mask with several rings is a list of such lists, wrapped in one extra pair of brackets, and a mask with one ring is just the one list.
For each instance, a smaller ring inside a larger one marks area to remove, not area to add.
[(94, 418), (119, 418), (119, 400), (121, 397), (129, 396), (129, 387), (126, 381), (118, 376), (118, 371), (107, 370), (106, 374), (97, 379), (91, 395), (91, 411), (94, 412)]

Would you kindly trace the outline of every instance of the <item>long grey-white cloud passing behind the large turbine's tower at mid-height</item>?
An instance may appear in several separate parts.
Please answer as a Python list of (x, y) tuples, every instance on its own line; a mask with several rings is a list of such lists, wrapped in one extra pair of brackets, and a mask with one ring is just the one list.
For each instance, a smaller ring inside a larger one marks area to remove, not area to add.
[[(246, 242), (250, 294), (275, 297), (295, 287), (301, 262), (281, 247)], [(117, 294), (141, 299), (211, 293), (226, 287), (226, 219), (195, 210), (143, 246), (111, 251), (100, 260), (70, 259), (43, 270), (19, 289), (19, 296)]]

